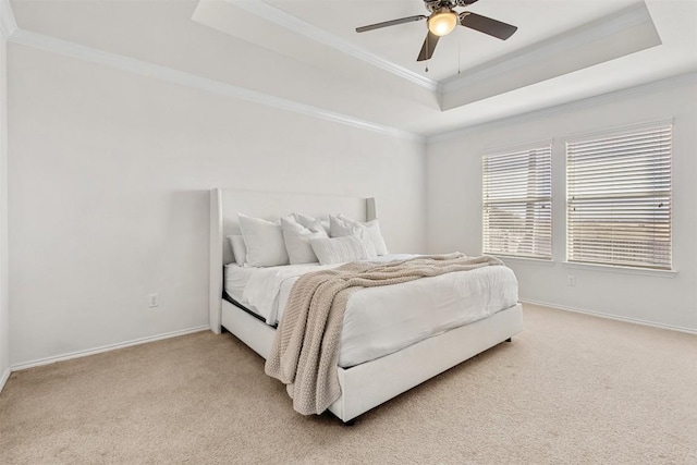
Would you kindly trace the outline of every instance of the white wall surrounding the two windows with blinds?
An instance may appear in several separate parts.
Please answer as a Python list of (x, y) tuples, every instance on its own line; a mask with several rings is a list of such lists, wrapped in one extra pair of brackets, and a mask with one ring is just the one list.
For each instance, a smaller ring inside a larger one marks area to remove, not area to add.
[[(441, 136), (427, 148), (428, 247), (481, 253), (481, 155), (554, 139), (552, 265), (509, 259), (524, 301), (697, 331), (697, 77), (549, 109)], [(565, 260), (564, 137), (674, 118), (673, 267), (675, 276), (572, 268)], [(568, 286), (566, 277), (576, 277)]]

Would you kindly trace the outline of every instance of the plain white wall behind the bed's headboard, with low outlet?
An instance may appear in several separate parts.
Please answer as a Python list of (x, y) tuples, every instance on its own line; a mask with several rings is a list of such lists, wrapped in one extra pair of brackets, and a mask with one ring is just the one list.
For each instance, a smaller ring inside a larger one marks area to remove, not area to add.
[(420, 143), (9, 52), (12, 365), (208, 325), (212, 187), (375, 196), (426, 247)]

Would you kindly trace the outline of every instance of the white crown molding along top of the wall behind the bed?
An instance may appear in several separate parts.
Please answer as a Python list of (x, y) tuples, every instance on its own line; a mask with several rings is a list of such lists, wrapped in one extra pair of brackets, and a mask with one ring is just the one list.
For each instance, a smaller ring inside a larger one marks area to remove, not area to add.
[(122, 54), (111, 53), (108, 51), (82, 46), (75, 42), (61, 40), (56, 37), (42, 34), (32, 33), (29, 30), (16, 29), (9, 38), (12, 44), (33, 47), (64, 57), (71, 57), (90, 63), (101, 64), (114, 68), (117, 70), (126, 71), (142, 76), (154, 77), (173, 84), (179, 84), (195, 89), (232, 97), (253, 103), (264, 105), (266, 107), (279, 110), (291, 111), (307, 117), (318, 118), (325, 121), (343, 124), (346, 126), (357, 127), (365, 131), (371, 131), (392, 137), (424, 143), (426, 138), (423, 135), (409, 133), (395, 127), (372, 123), (370, 121), (354, 118), (347, 114), (338, 113), (318, 107), (299, 103), (286, 98), (264, 94), (257, 90), (250, 90), (233, 84), (210, 79), (207, 77), (191, 74), (184, 71), (174, 70), (159, 64), (149, 63)]

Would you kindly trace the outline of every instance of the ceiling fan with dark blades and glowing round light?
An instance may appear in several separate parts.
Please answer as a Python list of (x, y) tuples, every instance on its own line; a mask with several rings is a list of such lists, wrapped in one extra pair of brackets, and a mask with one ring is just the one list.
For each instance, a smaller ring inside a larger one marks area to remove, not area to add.
[(370, 24), (367, 26), (356, 27), (356, 33), (365, 33), (367, 30), (379, 29), (381, 27), (427, 20), (428, 34), (426, 35), (424, 46), (421, 47), (421, 51), (417, 59), (417, 61), (424, 61), (429, 60), (433, 54), (438, 39), (452, 33), (458, 23), (461, 26), (479, 30), (480, 33), (488, 34), (501, 40), (508, 39), (517, 30), (516, 26), (512, 26), (480, 14), (470, 13), (468, 11), (457, 13), (453, 10), (455, 7), (467, 7), (476, 1), (477, 0), (424, 0), (426, 10), (431, 13), (428, 16), (418, 14), (416, 16), (407, 16), (399, 20)]

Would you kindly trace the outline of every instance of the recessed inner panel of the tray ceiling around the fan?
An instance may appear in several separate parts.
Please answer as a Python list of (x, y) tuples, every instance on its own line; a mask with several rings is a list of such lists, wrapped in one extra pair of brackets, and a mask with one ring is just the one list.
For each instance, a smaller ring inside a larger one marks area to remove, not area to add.
[[(383, 60), (433, 81), (443, 81), (478, 64), (553, 37), (571, 28), (613, 14), (637, 0), (615, 1), (506, 1), (479, 0), (457, 12), (470, 11), (513, 25), (519, 29), (506, 41), (457, 27), (439, 41), (437, 53), (425, 71), (416, 57), (424, 42), (425, 21), (357, 34), (356, 26), (417, 14), (428, 15), (423, 0), (267, 0), (271, 7), (322, 28), (335, 37), (366, 49)], [(239, 3), (244, 5), (245, 3)], [(540, 14), (543, 11), (543, 14)]]

